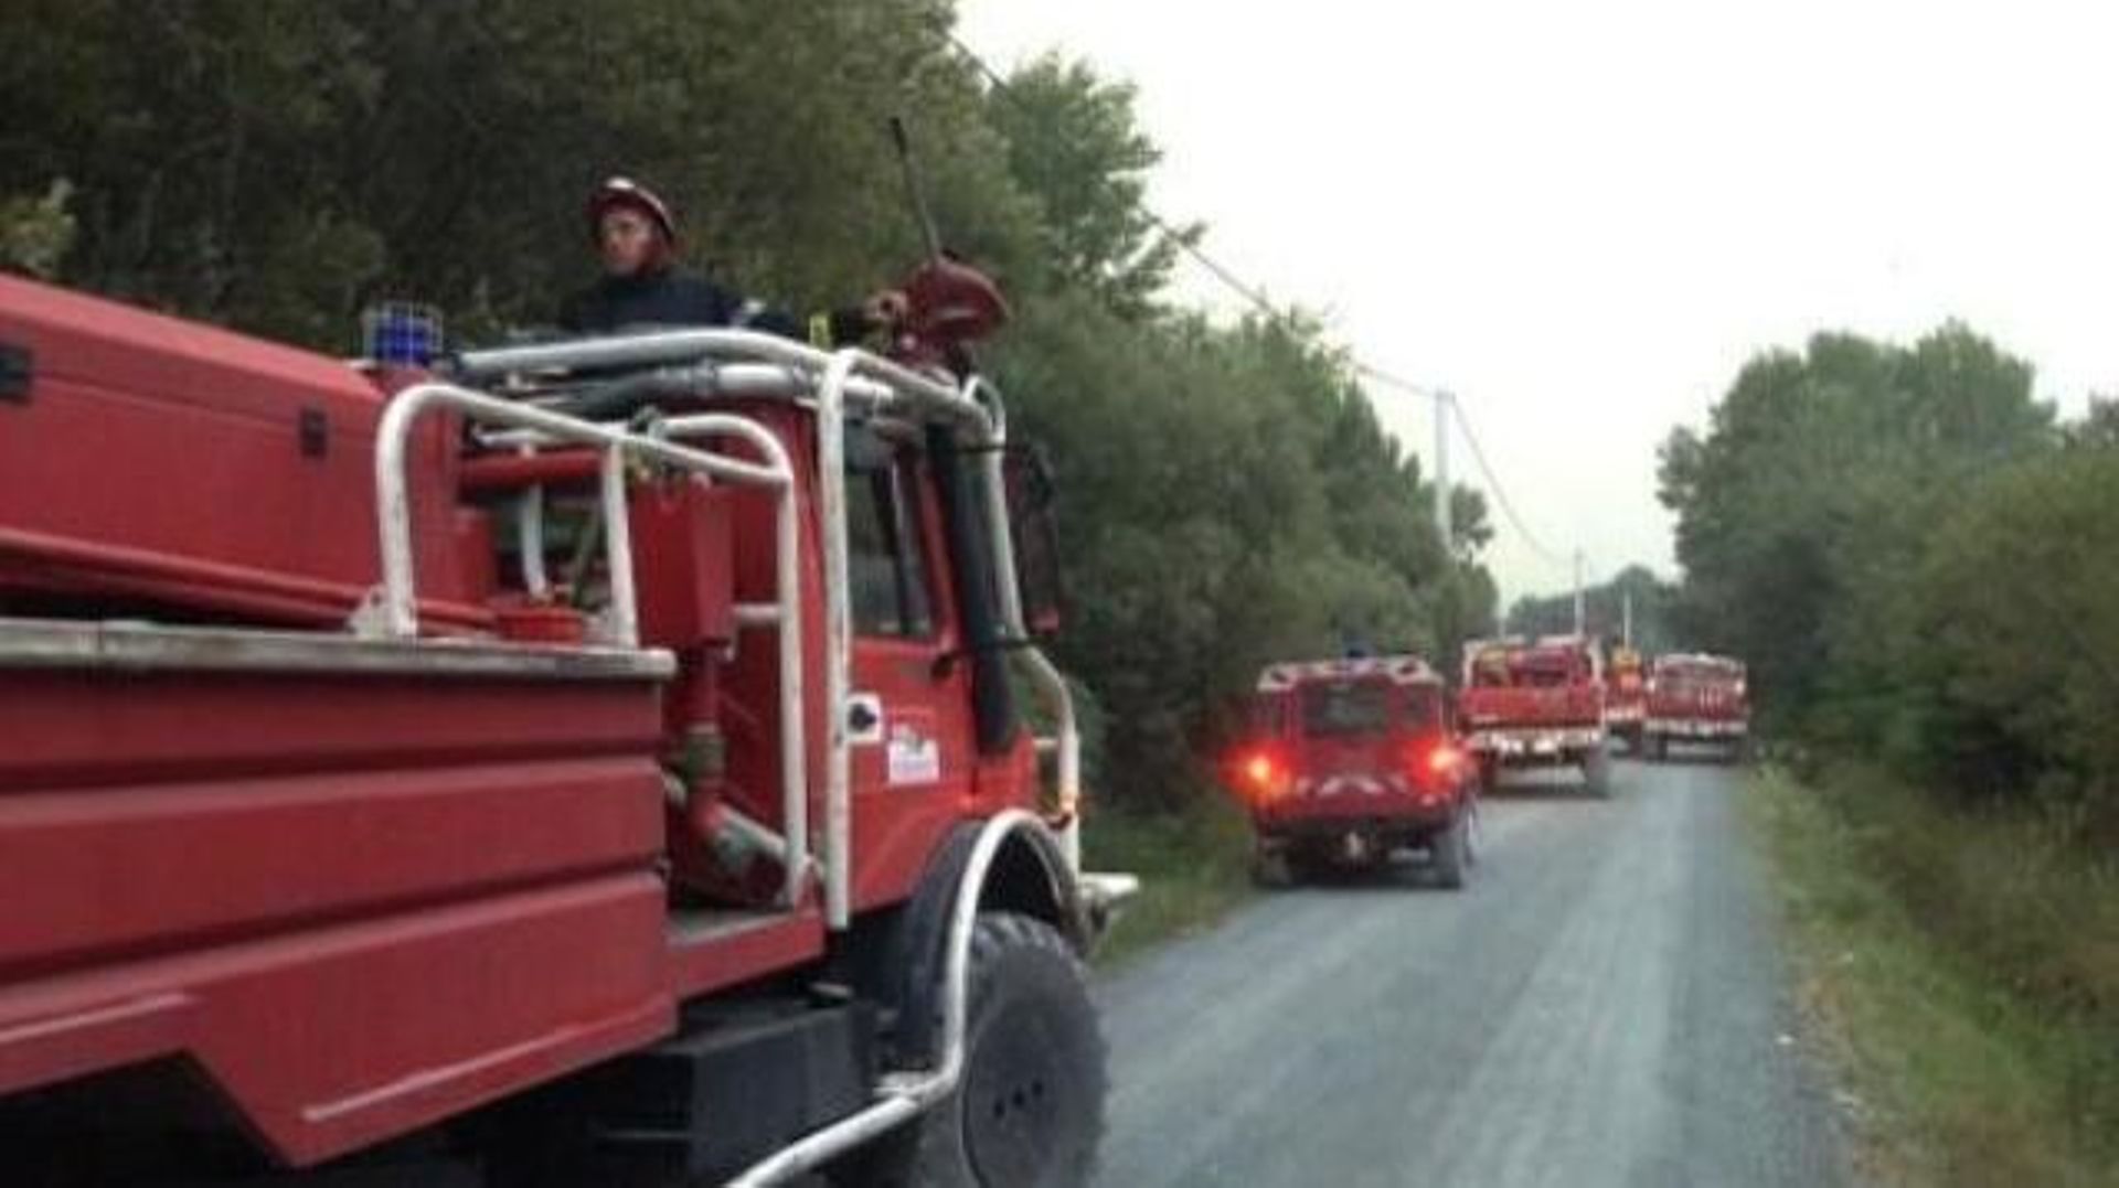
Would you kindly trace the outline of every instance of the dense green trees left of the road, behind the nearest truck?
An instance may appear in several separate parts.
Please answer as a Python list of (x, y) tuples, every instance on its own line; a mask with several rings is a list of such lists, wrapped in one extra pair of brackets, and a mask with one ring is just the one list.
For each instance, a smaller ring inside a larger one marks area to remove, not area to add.
[[(1178, 241), (1127, 85), (1057, 57), (1009, 93), (949, 0), (21, 0), (0, 6), (0, 208), (17, 267), (345, 352), (377, 296), (458, 339), (589, 280), (608, 174), (678, 210), (687, 263), (795, 307), (924, 252), (888, 116), (947, 244), (1011, 290), (990, 352), (1064, 487), (1064, 661), (1106, 794), (1172, 800), (1274, 659), (1445, 648), (1492, 618), (1485, 508), (1432, 489), (1314, 322), (1161, 307)], [(64, 180), (70, 191), (53, 191)], [(72, 220), (70, 235), (66, 220)], [(30, 250), (15, 248), (30, 244)], [(40, 244), (40, 246), (38, 246)]]

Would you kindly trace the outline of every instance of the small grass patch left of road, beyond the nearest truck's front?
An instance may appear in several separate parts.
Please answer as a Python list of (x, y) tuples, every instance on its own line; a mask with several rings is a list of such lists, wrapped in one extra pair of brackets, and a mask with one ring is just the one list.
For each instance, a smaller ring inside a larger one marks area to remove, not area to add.
[(1165, 940), (1212, 928), (1250, 898), (1250, 824), (1225, 796), (1168, 813), (1104, 807), (1083, 824), (1087, 866), (1140, 877), (1096, 951), (1112, 970)]

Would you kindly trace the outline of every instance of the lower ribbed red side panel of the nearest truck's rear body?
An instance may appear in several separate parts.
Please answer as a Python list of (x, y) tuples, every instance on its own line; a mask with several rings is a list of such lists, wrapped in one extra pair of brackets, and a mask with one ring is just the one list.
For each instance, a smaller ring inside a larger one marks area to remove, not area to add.
[(667, 1031), (657, 684), (0, 671), (0, 1093), (186, 1057), (309, 1163)]

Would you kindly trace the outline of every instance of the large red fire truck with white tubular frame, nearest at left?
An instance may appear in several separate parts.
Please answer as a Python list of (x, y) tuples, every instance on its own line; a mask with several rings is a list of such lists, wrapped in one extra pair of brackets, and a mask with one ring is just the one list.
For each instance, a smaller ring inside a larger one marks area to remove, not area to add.
[(907, 288), (420, 368), (0, 277), (0, 1177), (1087, 1180), (1129, 879)]

